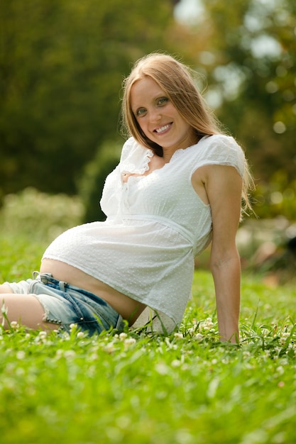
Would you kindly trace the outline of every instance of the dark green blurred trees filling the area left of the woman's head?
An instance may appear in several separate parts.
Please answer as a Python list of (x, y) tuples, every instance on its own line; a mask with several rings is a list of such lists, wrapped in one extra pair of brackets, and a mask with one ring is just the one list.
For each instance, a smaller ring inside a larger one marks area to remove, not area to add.
[(174, 3), (0, 0), (0, 198), (28, 185), (76, 192), (118, 131), (131, 62), (175, 48)]

